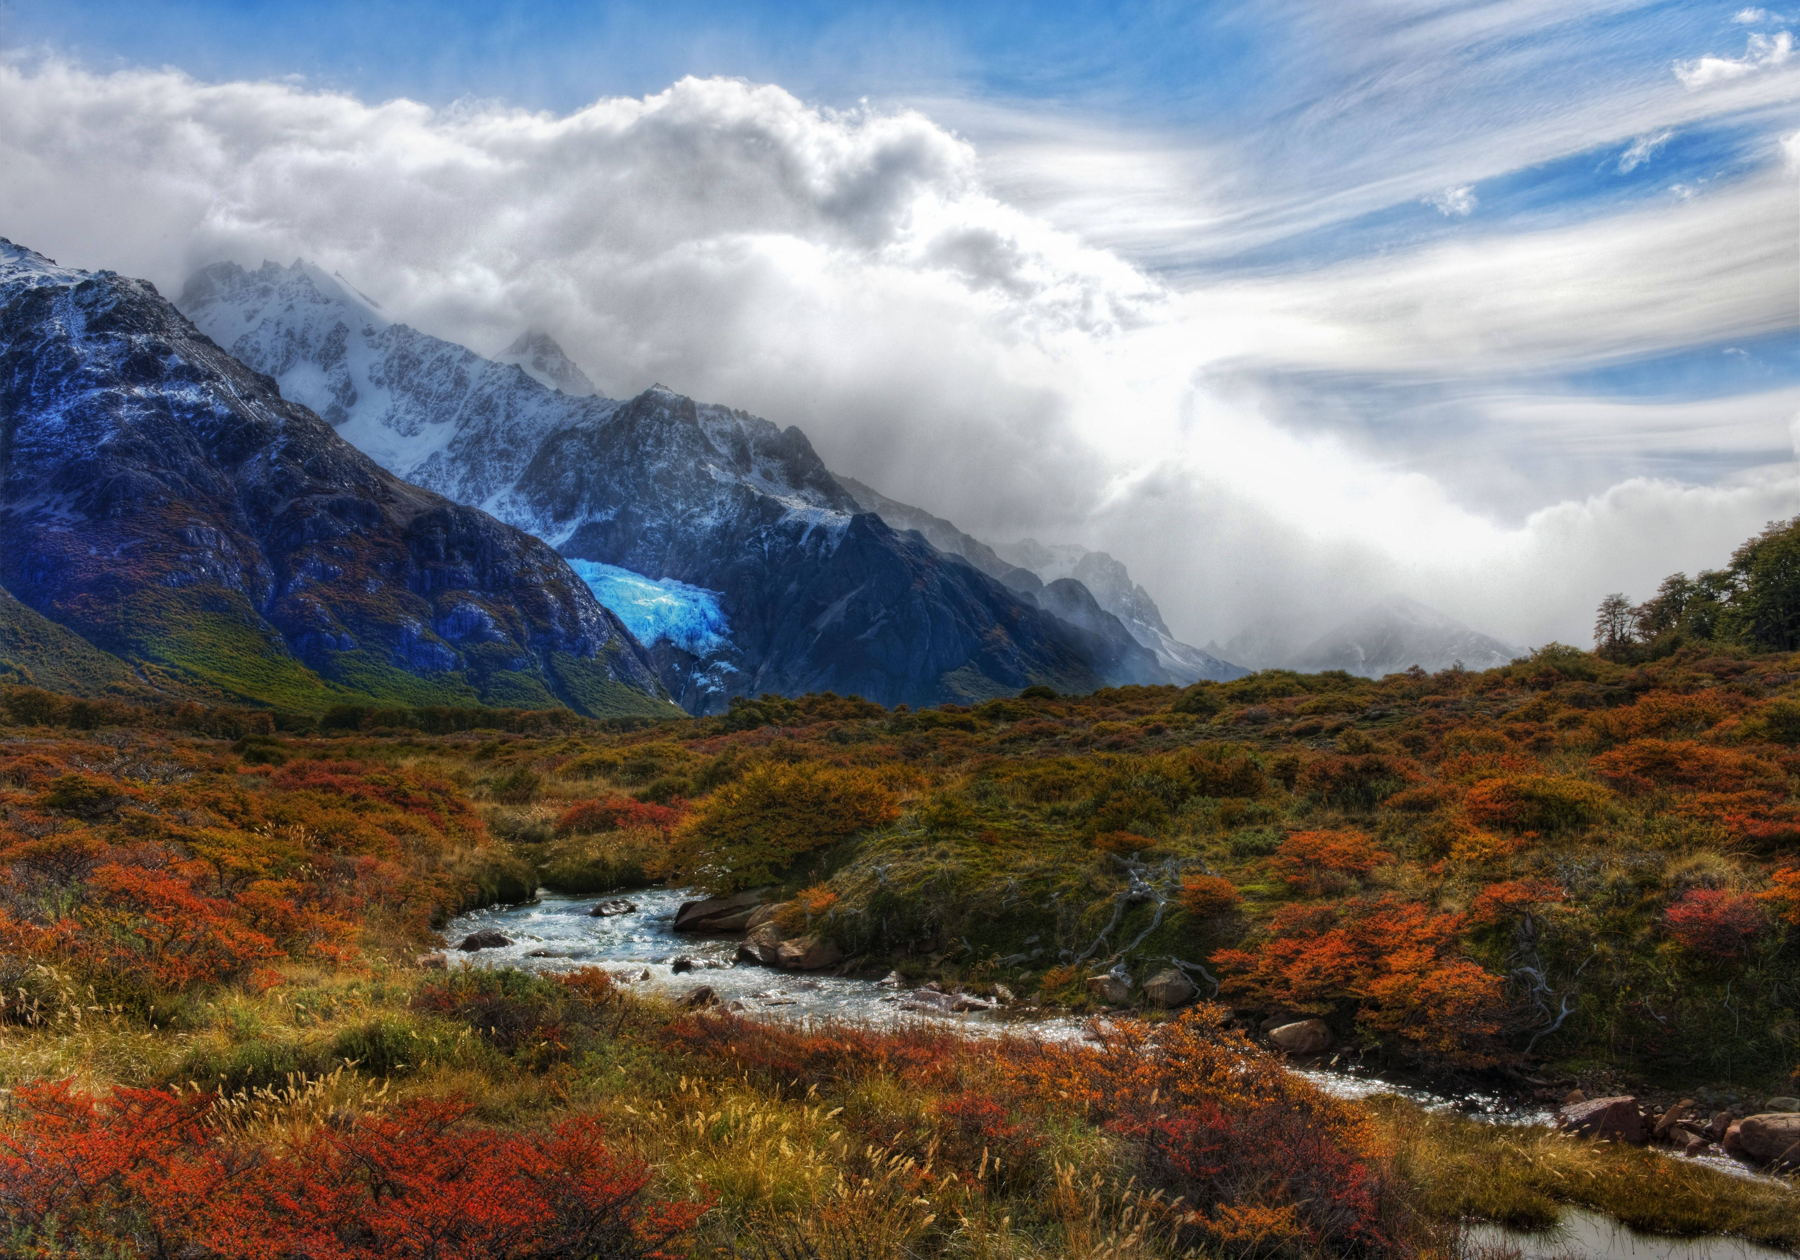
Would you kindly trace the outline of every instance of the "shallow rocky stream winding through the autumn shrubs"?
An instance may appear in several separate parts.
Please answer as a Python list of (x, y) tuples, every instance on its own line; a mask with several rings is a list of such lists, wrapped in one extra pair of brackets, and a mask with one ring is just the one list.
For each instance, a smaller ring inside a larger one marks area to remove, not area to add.
[[(630, 902), (637, 909), (626, 914), (596, 918), (596, 904), (605, 900)], [(1075, 1040), (1087, 1033), (1091, 1021), (1073, 1015), (1044, 1015), (1030, 1004), (1013, 1004), (992, 1012), (941, 1013), (904, 1010), (905, 992), (882, 988), (877, 981), (846, 976), (810, 976), (778, 972), (767, 967), (734, 963), (736, 938), (675, 934), (675, 911), (693, 900), (688, 889), (648, 887), (635, 893), (608, 896), (562, 896), (542, 893), (524, 905), (495, 905), (459, 914), (445, 925), (450, 943), (445, 956), (450, 967), (518, 967), (524, 970), (560, 972), (578, 967), (605, 967), (632, 985), (679, 995), (700, 985), (709, 985), (720, 1001), (736, 1004), (745, 1015), (767, 1013), (778, 1019), (848, 1021), (859, 1024), (896, 1024), (904, 1021), (932, 1021), (959, 1028), (972, 1035), (999, 1035), (1030, 1031), (1035, 1037)], [(470, 954), (457, 952), (455, 943), (481, 929), (499, 929), (511, 945)], [(671, 963), (689, 959), (689, 970), (677, 972)], [(1431, 1111), (1458, 1111), (1476, 1120), (1501, 1125), (1548, 1125), (1552, 1112), (1526, 1107), (1501, 1094), (1447, 1096), (1431, 1089), (1382, 1080), (1357, 1071), (1328, 1071), (1318, 1067), (1294, 1069), (1319, 1089), (1339, 1098), (1368, 1098), (1373, 1094), (1400, 1094)], [(1670, 1154), (1670, 1159), (1687, 1156)], [(1730, 1156), (1699, 1156), (1701, 1163), (1737, 1177), (1759, 1177)], [(1539, 1256), (1564, 1260), (1591, 1256), (1604, 1260), (1793, 1260), (1793, 1255), (1741, 1238), (1667, 1238), (1640, 1235), (1593, 1211), (1568, 1208), (1561, 1224), (1546, 1233), (1521, 1233), (1499, 1226), (1478, 1224), (1469, 1229), (1478, 1244), (1469, 1255)]]

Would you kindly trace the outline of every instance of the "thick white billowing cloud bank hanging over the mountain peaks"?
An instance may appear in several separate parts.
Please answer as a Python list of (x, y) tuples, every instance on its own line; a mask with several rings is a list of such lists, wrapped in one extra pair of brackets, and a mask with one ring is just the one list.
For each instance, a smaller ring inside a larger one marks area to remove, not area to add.
[[(976, 148), (922, 113), (738, 81), (554, 117), (14, 61), (0, 119), (0, 234), (65, 263), (178, 292), (207, 261), (304, 256), (477, 349), (547, 328), (605, 392), (661, 380), (796, 423), (833, 468), (970, 531), (1107, 547), (1197, 641), (1390, 589), (1516, 643), (1579, 637), (1606, 590), (1647, 592), (1800, 511), (1775, 454), (1710, 486), (1620, 479), (1490, 518), (1296, 425), (1267, 387), (1782, 328), (1775, 176), (1606, 232), (1177, 292), (997, 200)], [(1789, 403), (1733, 416), (1737, 441), (1784, 446)], [(1510, 407), (1489, 416), (1496, 466), (1561, 441), (1553, 400)], [(1631, 423), (1568, 419), (1584, 441)]]

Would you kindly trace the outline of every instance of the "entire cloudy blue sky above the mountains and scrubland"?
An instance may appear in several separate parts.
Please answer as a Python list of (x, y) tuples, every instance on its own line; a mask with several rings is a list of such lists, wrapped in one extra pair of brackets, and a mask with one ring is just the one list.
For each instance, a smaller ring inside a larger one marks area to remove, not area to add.
[(1571, 637), (1595, 585), (1800, 511), (1795, 31), (0, 0), (0, 234), (175, 290), (304, 254), (477, 349), (549, 326), (612, 392), (673, 376), (965, 527), (1107, 545), (1195, 639), (1390, 587)]

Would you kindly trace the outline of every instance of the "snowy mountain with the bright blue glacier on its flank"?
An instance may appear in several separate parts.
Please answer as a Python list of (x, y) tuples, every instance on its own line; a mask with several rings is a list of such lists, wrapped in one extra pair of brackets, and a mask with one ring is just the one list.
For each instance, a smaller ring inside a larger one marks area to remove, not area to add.
[(182, 302), (389, 470), (583, 562), (659, 626), (648, 646), (689, 711), (761, 691), (938, 704), (1127, 680), (1109, 673), (1114, 644), (860, 511), (797, 428), (661, 385), (558, 394), (306, 263), (214, 265)]

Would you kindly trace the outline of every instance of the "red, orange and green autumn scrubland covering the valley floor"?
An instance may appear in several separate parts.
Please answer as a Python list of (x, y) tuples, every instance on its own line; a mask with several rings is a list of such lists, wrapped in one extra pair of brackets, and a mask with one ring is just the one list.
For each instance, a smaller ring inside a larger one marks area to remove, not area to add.
[[(1546, 648), (670, 724), (0, 693), (0, 1213), (22, 1255), (1451, 1255), (1582, 1202), (1800, 1246), (1780, 1179), (1350, 1103), (1800, 1089), (1800, 657)], [(538, 886), (765, 889), (846, 968), (1100, 1040), (796, 1028), (432, 972)]]

